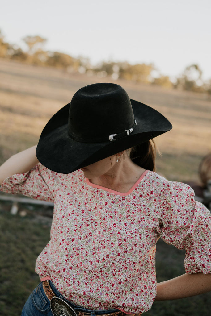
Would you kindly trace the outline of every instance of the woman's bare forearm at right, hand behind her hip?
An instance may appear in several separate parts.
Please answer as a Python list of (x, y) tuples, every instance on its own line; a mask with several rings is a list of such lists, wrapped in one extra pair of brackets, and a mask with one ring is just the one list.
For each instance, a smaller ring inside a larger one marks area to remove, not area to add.
[(211, 273), (192, 273), (157, 283), (155, 301), (176, 300), (211, 291)]

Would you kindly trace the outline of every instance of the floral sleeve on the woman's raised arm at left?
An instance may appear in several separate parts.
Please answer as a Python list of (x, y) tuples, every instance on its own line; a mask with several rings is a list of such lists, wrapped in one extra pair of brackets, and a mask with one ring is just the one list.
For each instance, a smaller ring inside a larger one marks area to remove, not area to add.
[(60, 175), (38, 163), (28, 172), (18, 173), (5, 179), (1, 191), (54, 202)]

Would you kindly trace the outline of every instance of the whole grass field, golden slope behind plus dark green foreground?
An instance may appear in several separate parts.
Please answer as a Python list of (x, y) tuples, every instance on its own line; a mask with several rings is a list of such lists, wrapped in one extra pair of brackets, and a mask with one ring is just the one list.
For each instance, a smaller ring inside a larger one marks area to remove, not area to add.
[[(38, 142), (48, 119), (69, 103), (84, 85), (109, 81), (0, 60), (0, 163)], [(115, 81), (116, 82), (116, 81)], [(207, 95), (164, 90), (160, 87), (121, 84), (130, 98), (162, 112), (173, 130), (156, 138), (162, 153), (157, 171), (168, 179), (198, 181), (197, 169), (211, 151), (211, 100)], [(40, 209), (20, 205), (27, 216), (9, 213), (11, 203), (0, 203), (0, 315), (19, 315), (38, 284), (35, 260), (50, 238), (51, 218), (37, 216)], [(184, 252), (158, 241), (157, 278), (164, 281), (184, 273)], [(155, 302), (146, 316), (208, 316), (211, 294), (176, 301)]]

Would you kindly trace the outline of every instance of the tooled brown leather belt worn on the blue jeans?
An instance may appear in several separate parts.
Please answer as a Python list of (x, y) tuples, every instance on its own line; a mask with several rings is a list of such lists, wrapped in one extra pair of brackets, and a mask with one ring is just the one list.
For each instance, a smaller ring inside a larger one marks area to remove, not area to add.
[[(84, 313), (75, 311), (66, 301), (55, 297), (55, 294), (53, 293), (52, 288), (50, 287), (50, 284), (47, 281), (42, 282), (43, 290), (47, 296), (47, 298), (50, 301), (51, 304), (51, 311), (54, 316), (86, 316), (91, 315), (91, 313)], [(109, 314), (101, 314), (100, 316), (125, 316), (126, 314), (119, 311), (115, 313), (109, 313)]]

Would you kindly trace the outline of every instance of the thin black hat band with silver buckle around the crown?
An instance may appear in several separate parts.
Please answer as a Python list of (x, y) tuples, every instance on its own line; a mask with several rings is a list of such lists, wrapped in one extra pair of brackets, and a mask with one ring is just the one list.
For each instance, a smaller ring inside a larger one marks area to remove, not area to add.
[(133, 126), (131, 128), (129, 128), (128, 130), (123, 131), (122, 133), (119, 134), (110, 134), (107, 137), (102, 137), (102, 138), (80, 138), (77, 136), (73, 136), (68, 132), (69, 137), (71, 137), (72, 139), (76, 140), (77, 142), (81, 142), (81, 143), (101, 143), (101, 142), (113, 142), (114, 140), (117, 140), (121, 137), (127, 136), (129, 134), (131, 134), (133, 132), (133, 130), (135, 129), (137, 123), (136, 120), (133, 123)]

